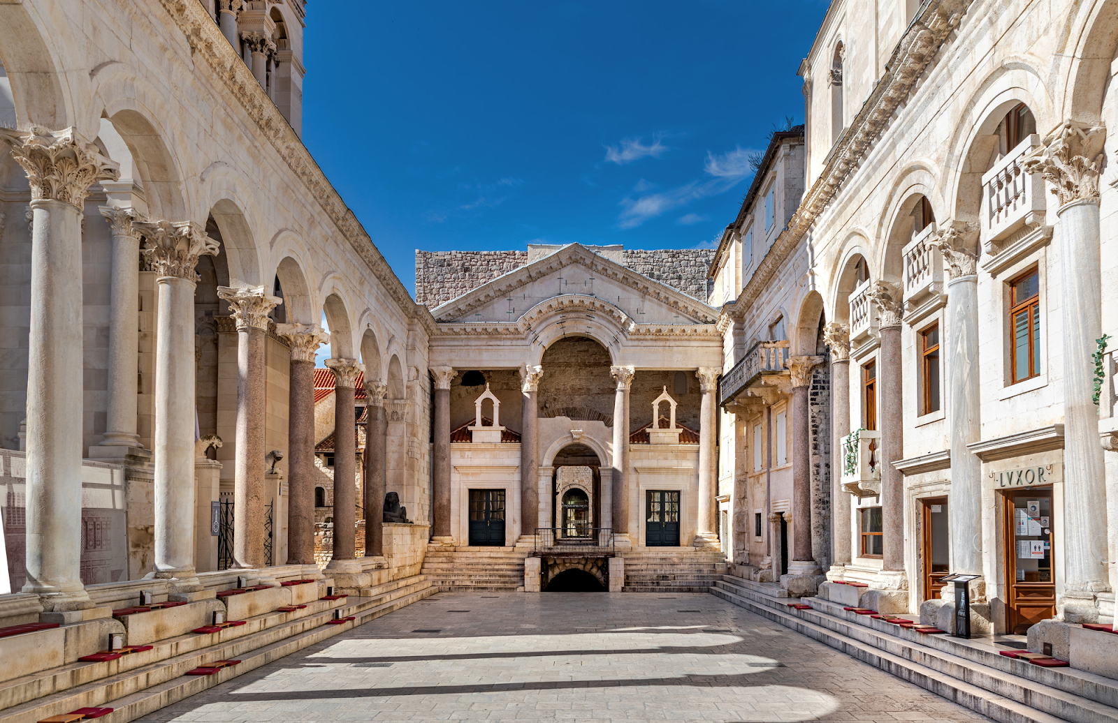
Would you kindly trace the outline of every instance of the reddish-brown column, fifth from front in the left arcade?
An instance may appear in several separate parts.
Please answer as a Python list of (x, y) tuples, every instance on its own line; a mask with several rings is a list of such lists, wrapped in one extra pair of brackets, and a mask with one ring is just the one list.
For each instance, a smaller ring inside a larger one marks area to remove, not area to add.
[(328, 566), (342, 573), (359, 573), (356, 562), (357, 432), (353, 397), (357, 377), (364, 367), (357, 359), (326, 359), (334, 373), (334, 552)]

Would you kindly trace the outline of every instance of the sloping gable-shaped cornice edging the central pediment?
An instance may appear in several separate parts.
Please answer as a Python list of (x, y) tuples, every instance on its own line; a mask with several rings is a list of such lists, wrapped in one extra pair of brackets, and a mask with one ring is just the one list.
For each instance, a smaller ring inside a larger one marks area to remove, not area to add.
[[(446, 303), (436, 307), (432, 312), (439, 322), (455, 321), (467, 316), (471, 311), (482, 306), (500, 299), (513, 289), (518, 289), (525, 283), (544, 277), (549, 273), (566, 268), (572, 263), (586, 267), (601, 278), (608, 278), (623, 286), (642, 293), (650, 299), (659, 301), (665, 306), (684, 314), (702, 324), (714, 324), (718, 320), (718, 311), (705, 303), (689, 297), (682, 291), (650, 279), (619, 263), (615, 263), (605, 257), (590, 251), (578, 243), (571, 243), (555, 253), (551, 253), (539, 261), (522, 266), (503, 276), (483, 283), (473, 291), (462, 295), (457, 299), (452, 299)], [(557, 295), (565, 296), (565, 295)], [(572, 295), (574, 296), (574, 295)], [(616, 307), (615, 307), (616, 308)], [(624, 314), (624, 312), (623, 312)]]

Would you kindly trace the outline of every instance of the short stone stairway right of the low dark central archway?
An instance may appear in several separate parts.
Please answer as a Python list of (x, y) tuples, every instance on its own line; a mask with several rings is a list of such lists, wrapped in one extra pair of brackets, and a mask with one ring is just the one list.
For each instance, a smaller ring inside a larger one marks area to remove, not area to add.
[(721, 552), (694, 548), (626, 550), (623, 592), (709, 592), (726, 573)]

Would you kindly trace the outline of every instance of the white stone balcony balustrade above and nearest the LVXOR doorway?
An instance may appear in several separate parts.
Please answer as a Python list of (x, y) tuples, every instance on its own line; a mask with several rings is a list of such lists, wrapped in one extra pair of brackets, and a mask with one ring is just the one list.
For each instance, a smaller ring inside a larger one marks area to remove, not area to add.
[(1024, 158), (1041, 146), (1040, 136), (1033, 134), (1017, 144), (1004, 158), (982, 176), (983, 214), (982, 242), (987, 245), (1004, 241), (1025, 225), (1030, 214), (1040, 214), (1043, 222), (1045, 209), (1044, 180), (1039, 173), (1025, 173)]

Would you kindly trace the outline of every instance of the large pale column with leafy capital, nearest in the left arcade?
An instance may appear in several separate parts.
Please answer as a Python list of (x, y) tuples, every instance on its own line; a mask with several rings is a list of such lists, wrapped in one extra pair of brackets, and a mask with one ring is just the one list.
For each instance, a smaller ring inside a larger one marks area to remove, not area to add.
[(115, 180), (117, 166), (75, 128), (0, 128), (0, 139), (27, 173), (34, 219), (23, 591), (39, 594), (45, 610), (67, 613), (93, 607), (79, 569), (82, 209), (89, 185)]

